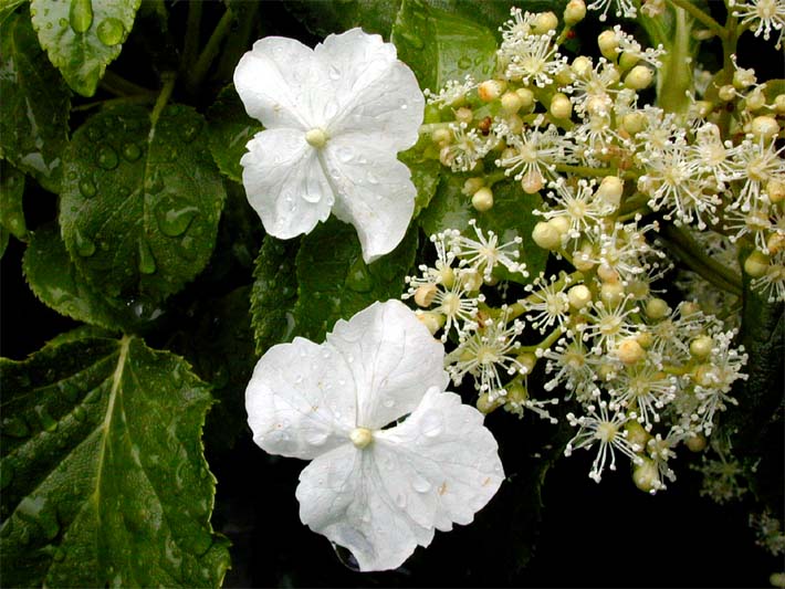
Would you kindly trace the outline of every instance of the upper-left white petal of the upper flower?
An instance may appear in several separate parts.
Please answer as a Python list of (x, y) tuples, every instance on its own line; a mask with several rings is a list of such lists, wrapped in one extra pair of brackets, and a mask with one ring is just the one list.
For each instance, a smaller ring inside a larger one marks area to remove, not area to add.
[(326, 124), (327, 71), (312, 49), (294, 39), (257, 41), (234, 70), (234, 87), (248, 114), (266, 128), (305, 132)]

